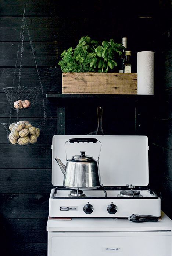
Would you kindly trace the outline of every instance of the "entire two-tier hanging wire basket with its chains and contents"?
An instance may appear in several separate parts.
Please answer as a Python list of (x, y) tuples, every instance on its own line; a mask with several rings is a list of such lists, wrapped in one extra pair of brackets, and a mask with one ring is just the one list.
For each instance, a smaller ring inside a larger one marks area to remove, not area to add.
[[(24, 29), (25, 25), (29, 35), (29, 41), (31, 44), (31, 49), (33, 53), (33, 59), (35, 61), (35, 66), (37, 70), (37, 75), (39, 77), (40, 87), (21, 87), (21, 70), (22, 70), (22, 53), (24, 50), (23, 43), (24, 43)], [(21, 44), (21, 59), (20, 59), (20, 66), (19, 66), (19, 81), (18, 87), (14, 87), (14, 78), (17, 69), (17, 61), (18, 61), (18, 53)], [(20, 38), (18, 43), (18, 50), (17, 50), (17, 59), (15, 63), (15, 70), (14, 70), (14, 77), (12, 87), (4, 88), (3, 89), (6, 93), (8, 101), (10, 103), (10, 122), (9, 123), (2, 123), (5, 127), (7, 132), (7, 139), (11, 145), (34, 145), (39, 140), (39, 135), (41, 133), (41, 128), (43, 124), (46, 122), (46, 112), (45, 112), (45, 104), (44, 104), (44, 97), (43, 97), (43, 86), (39, 76), (39, 70), (37, 68), (34, 49), (32, 46), (31, 37), (28, 30), (28, 25), (26, 22), (25, 11), (23, 13), (23, 19), (21, 24), (21, 31), (20, 31)], [(37, 103), (38, 95), (42, 94), (42, 102), (43, 102), (43, 113), (44, 113), (44, 121), (41, 122), (31, 122), (24, 120), (19, 121), (19, 110), (26, 109), (33, 107)], [(12, 108), (17, 110), (17, 121), (12, 123), (11, 122), (11, 112)]]

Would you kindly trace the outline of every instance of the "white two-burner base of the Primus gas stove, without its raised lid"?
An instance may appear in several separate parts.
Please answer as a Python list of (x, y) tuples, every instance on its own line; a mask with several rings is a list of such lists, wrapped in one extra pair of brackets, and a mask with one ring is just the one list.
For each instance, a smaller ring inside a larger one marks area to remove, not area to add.
[(104, 187), (69, 190), (56, 187), (50, 195), (50, 217), (128, 217), (161, 215), (161, 200), (148, 187)]

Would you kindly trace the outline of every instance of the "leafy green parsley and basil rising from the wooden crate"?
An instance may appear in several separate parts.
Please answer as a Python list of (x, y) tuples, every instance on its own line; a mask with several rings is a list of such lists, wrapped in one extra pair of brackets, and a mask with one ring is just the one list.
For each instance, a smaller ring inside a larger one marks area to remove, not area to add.
[[(117, 58), (122, 54), (122, 44), (113, 39), (110, 42), (91, 40), (89, 36), (80, 38), (75, 49), (69, 48), (61, 55), (58, 63), (62, 72), (108, 72), (117, 66)], [(115, 59), (115, 60), (114, 60)]]

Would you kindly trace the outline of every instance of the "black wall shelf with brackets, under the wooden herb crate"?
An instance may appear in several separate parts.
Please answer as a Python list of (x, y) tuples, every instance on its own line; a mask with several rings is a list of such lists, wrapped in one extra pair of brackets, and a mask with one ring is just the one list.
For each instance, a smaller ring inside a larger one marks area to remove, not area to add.
[[(136, 134), (140, 129), (141, 109), (146, 105), (155, 103), (154, 95), (137, 95), (137, 94), (60, 94), (47, 93), (47, 99), (57, 105), (57, 131), (59, 135), (65, 134), (65, 108), (71, 105), (89, 105), (90, 111), (97, 108), (104, 108), (113, 104), (132, 106), (135, 115)], [(141, 107), (142, 106), (142, 107)], [(96, 107), (96, 108), (95, 108)], [(152, 107), (151, 107), (152, 109)]]

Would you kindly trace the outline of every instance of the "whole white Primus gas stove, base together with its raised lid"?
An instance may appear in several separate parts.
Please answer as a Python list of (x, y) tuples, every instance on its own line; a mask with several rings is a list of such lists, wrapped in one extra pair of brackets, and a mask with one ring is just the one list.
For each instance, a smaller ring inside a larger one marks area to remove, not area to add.
[[(79, 136), (75, 136), (76, 138)], [(90, 137), (90, 136), (86, 136)], [(54, 158), (65, 163), (64, 140), (68, 135), (53, 137), (52, 183), (63, 183), (63, 175)], [(148, 139), (146, 136), (96, 136), (102, 143), (100, 176), (106, 186), (92, 190), (69, 190), (58, 186), (51, 191), (50, 217), (128, 217), (135, 214), (161, 215), (160, 198), (148, 185)], [(97, 147), (97, 148), (96, 148)], [(93, 143), (69, 145), (71, 157), (78, 151), (91, 155), (98, 152)], [(96, 156), (94, 156), (96, 158)], [(133, 185), (129, 185), (129, 184)]]

